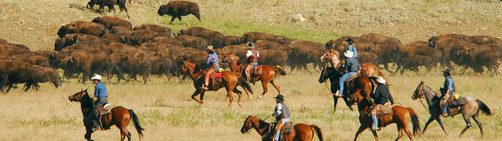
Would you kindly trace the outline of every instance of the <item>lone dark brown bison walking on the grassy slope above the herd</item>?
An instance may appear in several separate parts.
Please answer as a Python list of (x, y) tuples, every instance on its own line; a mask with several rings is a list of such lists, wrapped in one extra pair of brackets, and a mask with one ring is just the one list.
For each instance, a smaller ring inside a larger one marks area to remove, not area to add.
[(162, 5), (157, 12), (158, 15), (164, 16), (169, 15), (171, 18), (171, 23), (173, 23), (175, 18), (178, 18), (181, 22), (181, 16), (187, 16), (189, 14), (194, 15), (200, 21), (199, 5), (193, 2), (185, 1), (169, 1), (167, 5)]

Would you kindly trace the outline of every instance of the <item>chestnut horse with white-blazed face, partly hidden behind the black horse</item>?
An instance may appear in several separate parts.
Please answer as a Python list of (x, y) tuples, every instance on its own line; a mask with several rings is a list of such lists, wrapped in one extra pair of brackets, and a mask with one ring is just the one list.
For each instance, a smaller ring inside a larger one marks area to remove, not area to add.
[[(338, 72), (341, 72), (342, 68), (336, 66), (340, 66), (345, 62), (345, 61), (340, 61), (339, 52), (334, 49), (330, 49), (328, 53), (324, 54), (319, 59), (321, 59), (322, 62), (329, 62), (331, 64), (331, 67), (336, 68)], [(375, 65), (371, 63), (359, 63), (359, 65), (361, 66), (361, 68), (357, 71), (358, 76), (371, 77), (375, 73), (377, 73), (378, 76), (382, 76), (385, 80), (387, 80), (386, 84), (389, 84), (390, 82), (389, 79), (387, 79), (384, 73), (382, 73), (382, 71), (380, 71), (380, 69)]]

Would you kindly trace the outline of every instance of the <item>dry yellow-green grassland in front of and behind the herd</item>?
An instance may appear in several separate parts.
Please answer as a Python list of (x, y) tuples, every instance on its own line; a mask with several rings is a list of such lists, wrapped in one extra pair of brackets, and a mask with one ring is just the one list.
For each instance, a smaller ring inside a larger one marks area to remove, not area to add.
[[(325, 43), (339, 36), (360, 36), (362, 33), (379, 33), (393, 36), (403, 43), (427, 40), (430, 36), (443, 33), (465, 35), (487, 35), (500, 38), (502, 28), (502, 6), (500, 2), (489, 1), (304, 1), (272, 0), (243, 1), (217, 0), (194, 1), (199, 4), (202, 23), (194, 16), (183, 17), (183, 23), (175, 21), (167, 25), (170, 17), (158, 16), (160, 5), (167, 1), (135, 1), (128, 6), (133, 26), (142, 23), (159, 24), (178, 31), (190, 26), (200, 26), (223, 33), (240, 36), (244, 32), (256, 31), (288, 38)], [(52, 50), (56, 32), (63, 23), (71, 21), (91, 21), (97, 16), (113, 16), (113, 13), (100, 14), (96, 10), (85, 9), (87, 1), (76, 0), (0, 0), (0, 38), (11, 43), (24, 44), (32, 50)], [(129, 5), (129, 4), (128, 4)], [(115, 7), (117, 10), (118, 8)], [(106, 9), (106, 8), (105, 8)], [(304, 15), (307, 20), (292, 20), (296, 14)], [(126, 18), (125, 14), (117, 14)], [(391, 68), (391, 69), (395, 69)], [(423, 72), (424, 70), (422, 70)], [(388, 73), (385, 73), (389, 75)], [(318, 83), (319, 74), (293, 72), (277, 79), (286, 104), (292, 110), (292, 121), (316, 124), (322, 128), (326, 140), (351, 140), (359, 123), (358, 113), (350, 111), (342, 100), (338, 110), (332, 111), (332, 98), (324, 84)], [(431, 75), (416, 76), (412, 72), (389, 77), (393, 86), (391, 93), (396, 102), (412, 107), (419, 115), (423, 125), (429, 114), (420, 101), (410, 97), (420, 81), (433, 89), (442, 86), (444, 78), (439, 71)], [(465, 127), (460, 116), (444, 120), (449, 132), (445, 136), (436, 122), (431, 123), (424, 140), (499, 140), (502, 130), (502, 117), (498, 105), (502, 96), (500, 76), (473, 76), (469, 70), (466, 75), (453, 73), (457, 91), (486, 103), (493, 116), (480, 115), (484, 126), (484, 137), (479, 128), (473, 126), (462, 138), (458, 134)], [(278, 92), (269, 86), (269, 92), (262, 101), (242, 97), (242, 108), (236, 105), (226, 109), (228, 98), (224, 90), (208, 92), (204, 105), (199, 106), (190, 99), (193, 85), (180, 84), (176, 79), (167, 82), (165, 78), (152, 77), (153, 81), (107, 85), (109, 103), (135, 110), (140, 123), (146, 128), (145, 140), (259, 140), (256, 132), (241, 134), (240, 127), (244, 118), (256, 115), (265, 118), (274, 108)], [(113, 79), (115, 82), (116, 79)], [(22, 93), (19, 89), (9, 94), (0, 94), (0, 140), (81, 140), (85, 133), (82, 125), (80, 104), (70, 102), (68, 96), (80, 89), (93, 92), (93, 84), (77, 83), (69, 80), (63, 85), (65, 90), (54, 90), (48, 83), (41, 84), (39, 94), (35, 91)], [(256, 99), (262, 92), (260, 85), (253, 86)], [(238, 88), (241, 89), (241, 88)], [(236, 96), (234, 94), (234, 96)], [(356, 108), (354, 106), (354, 108)], [(269, 119), (268, 121), (272, 121)], [(133, 139), (138, 135), (133, 125), (129, 126)], [(379, 132), (382, 140), (397, 137), (395, 124)], [(95, 140), (116, 140), (118, 129), (93, 134)], [(372, 140), (369, 131), (364, 131), (360, 140)], [(402, 139), (407, 140), (407, 137)], [(422, 138), (415, 138), (422, 140)]]

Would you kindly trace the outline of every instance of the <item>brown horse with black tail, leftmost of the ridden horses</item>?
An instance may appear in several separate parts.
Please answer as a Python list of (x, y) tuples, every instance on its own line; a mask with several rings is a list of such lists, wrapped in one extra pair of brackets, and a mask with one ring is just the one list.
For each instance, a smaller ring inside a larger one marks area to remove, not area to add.
[[(90, 116), (94, 100), (87, 93), (87, 89), (81, 90), (80, 92), (68, 96), (68, 99), (70, 100), (70, 102), (80, 102), (82, 114), (84, 115), (83, 120), (86, 130), (84, 137), (85, 139), (87, 139), (87, 141), (91, 141), (91, 134), (94, 131), (92, 130), (92, 120)], [(145, 129), (141, 127), (140, 120), (133, 110), (126, 109), (121, 106), (113, 107), (110, 109), (110, 113), (102, 115), (101, 124), (102, 128), (104, 128), (105, 130), (110, 129), (110, 127), (113, 125), (117, 126), (117, 128), (120, 130), (120, 140), (123, 141), (127, 136), (127, 139), (131, 141), (131, 132), (127, 130), (127, 125), (129, 125), (131, 119), (133, 119), (134, 126), (136, 128), (136, 131), (138, 131), (141, 140), (141, 138), (143, 138), (142, 130)]]

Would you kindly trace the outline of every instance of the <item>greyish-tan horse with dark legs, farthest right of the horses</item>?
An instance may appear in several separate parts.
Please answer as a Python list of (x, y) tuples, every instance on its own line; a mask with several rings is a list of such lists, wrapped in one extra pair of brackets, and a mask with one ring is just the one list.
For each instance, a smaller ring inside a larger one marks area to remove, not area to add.
[[(422, 133), (425, 133), (425, 129), (427, 128), (427, 125), (429, 125), (432, 120), (436, 120), (441, 128), (444, 131), (444, 134), (447, 135), (446, 130), (444, 129), (443, 122), (441, 121), (442, 117), (442, 109), (439, 105), (441, 98), (436, 96), (436, 93), (427, 85), (424, 85), (424, 81), (421, 81), (420, 84), (417, 86), (417, 89), (415, 89), (415, 92), (413, 92), (413, 95), (411, 97), (413, 100), (420, 99), (420, 102), (422, 102), (422, 98), (425, 98), (427, 101), (427, 105), (429, 106), (429, 113), (431, 114), (431, 117), (429, 117), (429, 120), (425, 123), (424, 130)], [(490, 116), (491, 111), (484, 104), (482, 101), (478, 99), (474, 99), (470, 96), (460, 96), (459, 98), (465, 98), (467, 100), (467, 104), (460, 106), (458, 109), (451, 109), (451, 113), (453, 115), (457, 115), (462, 113), (462, 117), (464, 118), (465, 123), (467, 124), (465, 128), (460, 132), (460, 136), (471, 126), (470, 123), (470, 118), (474, 119), (474, 122), (476, 122), (477, 126), (479, 126), (479, 130), (481, 131), (481, 136), (483, 135), (483, 124), (481, 121), (479, 121), (478, 115), (479, 111), (481, 111), (483, 114)], [(423, 103), (422, 103), (423, 104)]]

